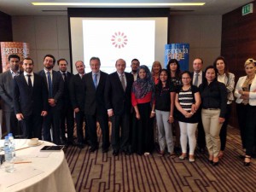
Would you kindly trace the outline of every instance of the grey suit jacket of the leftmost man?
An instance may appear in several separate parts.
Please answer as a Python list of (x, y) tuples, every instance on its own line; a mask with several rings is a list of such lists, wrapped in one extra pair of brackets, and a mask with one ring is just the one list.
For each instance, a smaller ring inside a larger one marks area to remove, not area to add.
[[(20, 71), (20, 74), (23, 72)], [(0, 74), (0, 96), (2, 98), (2, 109), (6, 112), (14, 111), (13, 104), (14, 81), (10, 70)]]

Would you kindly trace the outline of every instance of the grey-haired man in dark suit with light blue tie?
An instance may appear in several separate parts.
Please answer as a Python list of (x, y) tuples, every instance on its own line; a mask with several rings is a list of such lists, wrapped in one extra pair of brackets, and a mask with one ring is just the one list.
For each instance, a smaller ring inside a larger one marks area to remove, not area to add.
[(84, 75), (85, 104), (84, 113), (88, 123), (90, 152), (98, 148), (96, 123), (102, 129), (102, 152), (107, 153), (109, 143), (108, 111), (104, 102), (104, 91), (108, 74), (100, 71), (101, 61), (98, 57), (90, 58), (91, 72)]

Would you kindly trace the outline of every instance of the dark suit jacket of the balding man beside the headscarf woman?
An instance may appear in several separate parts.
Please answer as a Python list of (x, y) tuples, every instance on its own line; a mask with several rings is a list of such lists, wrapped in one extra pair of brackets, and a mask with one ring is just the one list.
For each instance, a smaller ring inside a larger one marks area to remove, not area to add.
[(117, 72), (108, 75), (105, 88), (106, 108), (113, 108), (114, 115), (130, 113), (131, 111), (131, 86), (133, 84), (133, 75), (125, 73), (126, 90), (123, 90), (119, 74)]

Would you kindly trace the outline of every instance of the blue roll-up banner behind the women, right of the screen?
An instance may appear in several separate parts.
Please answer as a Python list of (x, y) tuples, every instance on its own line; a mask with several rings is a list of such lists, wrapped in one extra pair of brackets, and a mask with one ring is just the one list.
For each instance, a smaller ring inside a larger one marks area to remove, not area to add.
[(189, 70), (189, 44), (166, 44), (165, 66), (171, 59), (177, 59), (181, 71)]

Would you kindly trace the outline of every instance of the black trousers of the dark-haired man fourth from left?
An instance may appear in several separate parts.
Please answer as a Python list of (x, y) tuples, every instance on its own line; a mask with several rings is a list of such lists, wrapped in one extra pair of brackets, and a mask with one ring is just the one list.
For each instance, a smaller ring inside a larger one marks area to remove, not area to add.
[[(65, 137), (65, 130), (67, 124), (67, 138)], [(61, 110), (61, 139), (62, 141), (66, 142), (73, 142), (73, 125), (74, 125), (74, 118), (73, 118), (73, 108), (66, 107)]]

